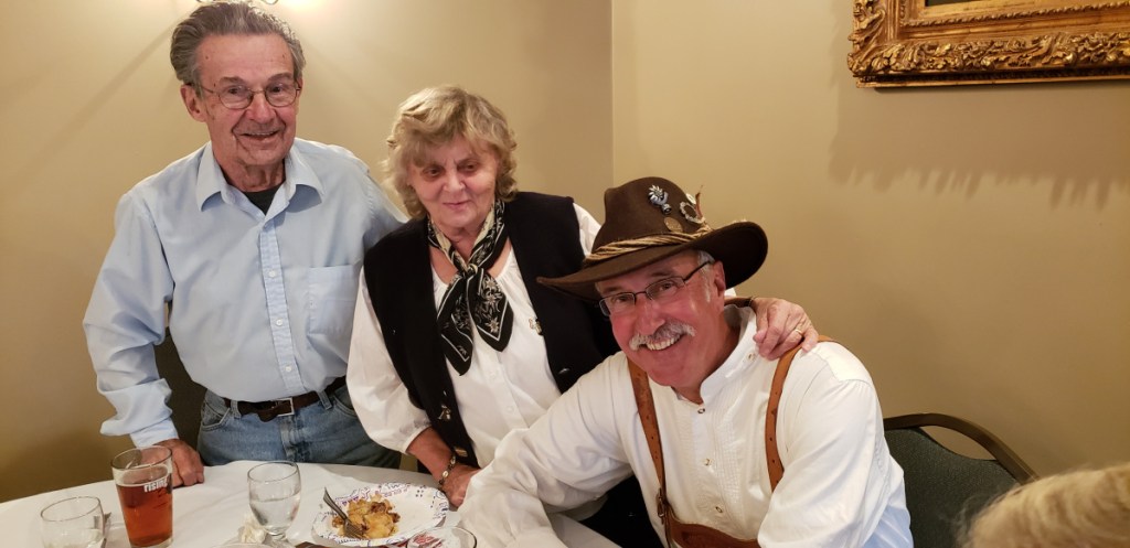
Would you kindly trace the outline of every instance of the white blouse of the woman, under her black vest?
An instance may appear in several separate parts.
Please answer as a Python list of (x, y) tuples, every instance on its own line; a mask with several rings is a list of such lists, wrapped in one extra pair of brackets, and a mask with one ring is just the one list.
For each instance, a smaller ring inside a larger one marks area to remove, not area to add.
[[(581, 247), (588, 254), (600, 224), (580, 206), (574, 205), (574, 209), (581, 226)], [(346, 374), (349, 394), (370, 437), (386, 447), (407, 452), (408, 445), (431, 425), (431, 420), (408, 399), (408, 389), (397, 375), (384, 346), (364, 271), (360, 279)], [(455, 401), (479, 467), (494, 460), (495, 450), (506, 434), (529, 427), (560, 397), (513, 249), (495, 279), (514, 312), (510, 342), (503, 351), (497, 351), (483, 343), (476, 331), (475, 353), (467, 374), (460, 375), (447, 364)], [(440, 279), (434, 268), (432, 284), (438, 308), (447, 284)]]

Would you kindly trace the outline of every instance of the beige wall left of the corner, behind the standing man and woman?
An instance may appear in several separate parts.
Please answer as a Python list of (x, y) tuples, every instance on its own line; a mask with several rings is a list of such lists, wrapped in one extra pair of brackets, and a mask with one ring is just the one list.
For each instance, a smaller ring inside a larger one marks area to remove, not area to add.
[[(108, 478), (81, 319), (118, 198), (205, 142), (168, 64), (194, 0), (12, 2), (0, 17), (0, 499)], [(281, 0), (304, 41), (298, 133), (374, 168), (397, 104), (460, 84), (515, 128), (523, 188), (611, 175), (603, 0)]]

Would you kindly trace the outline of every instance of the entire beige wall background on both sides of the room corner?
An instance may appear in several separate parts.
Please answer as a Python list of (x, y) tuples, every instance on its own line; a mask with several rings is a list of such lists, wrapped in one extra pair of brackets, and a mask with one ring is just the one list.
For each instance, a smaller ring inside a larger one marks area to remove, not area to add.
[[(128, 444), (97, 434), (80, 322), (119, 195), (206, 139), (167, 62), (194, 6), (0, 18), (0, 499), (104, 479)], [(299, 134), (375, 166), (399, 101), (462, 84), (510, 114), (525, 189), (602, 217), (605, 186), (661, 174), (760, 223), (742, 289), (805, 304), (888, 415), (965, 416), (1041, 472), (1130, 458), (1130, 84), (857, 89), (847, 0), (272, 9), (306, 45)]]

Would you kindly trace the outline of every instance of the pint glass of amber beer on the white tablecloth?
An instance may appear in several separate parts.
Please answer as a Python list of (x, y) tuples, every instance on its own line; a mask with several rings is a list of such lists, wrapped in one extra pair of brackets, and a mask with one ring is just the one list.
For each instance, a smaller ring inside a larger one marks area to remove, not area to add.
[(173, 541), (173, 450), (153, 445), (122, 451), (111, 466), (130, 546), (168, 546)]

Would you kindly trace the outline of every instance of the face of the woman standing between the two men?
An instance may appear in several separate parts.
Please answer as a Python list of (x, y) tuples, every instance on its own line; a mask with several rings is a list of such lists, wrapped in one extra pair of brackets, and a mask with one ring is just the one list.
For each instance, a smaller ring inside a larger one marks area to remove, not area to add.
[(408, 183), (436, 228), (457, 246), (469, 246), (494, 207), (497, 171), (494, 154), (457, 137), (410, 165)]

